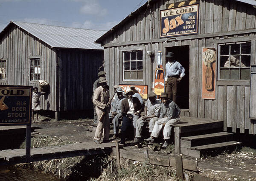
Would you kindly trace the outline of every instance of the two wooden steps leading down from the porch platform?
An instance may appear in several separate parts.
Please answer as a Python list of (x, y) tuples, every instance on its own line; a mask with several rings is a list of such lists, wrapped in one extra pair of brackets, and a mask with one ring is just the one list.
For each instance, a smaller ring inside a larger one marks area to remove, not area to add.
[(232, 140), (233, 133), (227, 132), (182, 137), (180, 139), (180, 152), (187, 156), (200, 158), (204, 151), (242, 144)]

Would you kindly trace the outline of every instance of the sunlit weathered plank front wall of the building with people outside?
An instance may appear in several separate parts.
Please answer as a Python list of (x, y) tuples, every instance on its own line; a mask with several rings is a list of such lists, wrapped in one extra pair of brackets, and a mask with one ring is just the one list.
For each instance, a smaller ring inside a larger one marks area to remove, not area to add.
[[(202, 48), (218, 48), (218, 43), (251, 41), (251, 64), (255, 64), (256, 40), (256, 9), (249, 4), (230, 0), (201, 0), (199, 10), (199, 34), (160, 39), (160, 10), (166, 9), (166, 4), (183, 0), (158, 0), (151, 5), (153, 20), (149, 10), (140, 14), (131, 14), (124, 25), (113, 30), (113, 33), (102, 41), (105, 47), (107, 79), (111, 92), (116, 84), (146, 84), (151, 91), (154, 69), (157, 63), (157, 51), (166, 54), (166, 47), (189, 45), (189, 112), (191, 116), (224, 120), (224, 130), (232, 127), (241, 133), (248, 130), (256, 134), (256, 123), (249, 119), (250, 81), (217, 81), (216, 99), (201, 99), (202, 89)], [(153, 34), (151, 24), (153, 23)], [(151, 37), (153, 36), (152, 45)], [(151, 47), (152, 46), (152, 47)], [(122, 79), (122, 50), (155, 51), (154, 62), (149, 56), (143, 57), (142, 82), (124, 82)], [(180, 51), (182, 53), (182, 50)], [(218, 60), (217, 60), (218, 61)], [(163, 65), (166, 60), (163, 56)], [(216, 68), (217, 70), (217, 68)]]

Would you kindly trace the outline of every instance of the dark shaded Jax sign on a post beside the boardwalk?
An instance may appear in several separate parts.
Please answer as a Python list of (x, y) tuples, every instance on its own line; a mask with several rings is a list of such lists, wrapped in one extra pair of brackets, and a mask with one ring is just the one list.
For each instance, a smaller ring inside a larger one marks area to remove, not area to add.
[(32, 88), (0, 85), (0, 126), (31, 124)]

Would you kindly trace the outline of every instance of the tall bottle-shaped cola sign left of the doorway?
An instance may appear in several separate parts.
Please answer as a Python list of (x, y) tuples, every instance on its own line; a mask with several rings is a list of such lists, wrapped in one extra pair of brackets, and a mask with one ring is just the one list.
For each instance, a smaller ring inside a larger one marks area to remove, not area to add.
[(155, 71), (154, 93), (161, 95), (164, 92), (164, 74), (162, 65), (162, 52), (157, 52), (157, 68)]

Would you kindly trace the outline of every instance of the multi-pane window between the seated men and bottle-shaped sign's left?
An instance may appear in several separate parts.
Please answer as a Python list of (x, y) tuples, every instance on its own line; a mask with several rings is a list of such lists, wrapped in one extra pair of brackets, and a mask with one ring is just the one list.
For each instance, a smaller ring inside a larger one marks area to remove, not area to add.
[(143, 80), (143, 51), (123, 52), (124, 80)]

